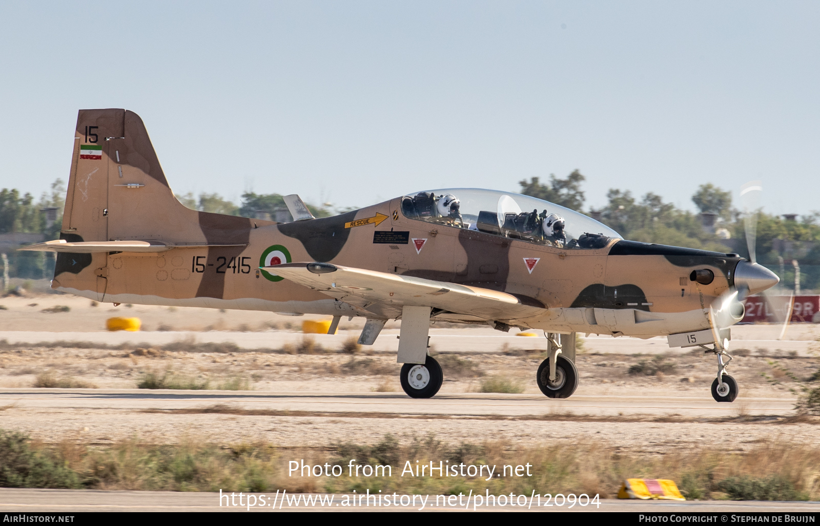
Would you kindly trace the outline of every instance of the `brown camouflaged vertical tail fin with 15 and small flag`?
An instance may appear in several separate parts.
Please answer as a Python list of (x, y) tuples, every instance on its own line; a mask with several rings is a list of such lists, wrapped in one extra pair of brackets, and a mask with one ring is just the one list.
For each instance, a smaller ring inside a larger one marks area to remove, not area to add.
[[(257, 223), (270, 222), (257, 221)], [(183, 206), (171, 191), (142, 119), (123, 109), (80, 110), (60, 237), (67, 241), (248, 243), (252, 220)], [(54, 288), (103, 297), (107, 252), (60, 253)]]

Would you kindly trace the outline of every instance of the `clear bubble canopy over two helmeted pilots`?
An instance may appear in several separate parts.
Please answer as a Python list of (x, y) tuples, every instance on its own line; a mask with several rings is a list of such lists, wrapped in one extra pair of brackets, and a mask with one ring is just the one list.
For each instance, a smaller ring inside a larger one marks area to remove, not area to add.
[[(453, 204), (448, 194), (458, 201)], [(482, 188), (410, 193), (402, 197), (401, 211), (414, 220), (560, 248), (603, 248), (610, 239), (621, 238), (607, 225), (565, 206)]]

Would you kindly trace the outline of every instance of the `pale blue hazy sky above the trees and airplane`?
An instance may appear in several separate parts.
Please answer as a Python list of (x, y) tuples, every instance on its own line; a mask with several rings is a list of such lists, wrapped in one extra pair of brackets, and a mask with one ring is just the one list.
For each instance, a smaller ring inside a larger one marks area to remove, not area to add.
[(80, 108), (176, 193), (365, 206), (586, 175), (820, 209), (820, 2), (2, 2), (0, 187), (67, 179)]

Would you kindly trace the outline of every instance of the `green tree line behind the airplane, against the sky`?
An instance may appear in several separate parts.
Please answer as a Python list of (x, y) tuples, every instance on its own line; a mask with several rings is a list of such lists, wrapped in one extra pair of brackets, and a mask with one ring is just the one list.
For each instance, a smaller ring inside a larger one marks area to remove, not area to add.
[[(636, 197), (631, 191), (618, 188), (610, 188), (607, 204), (595, 210), (585, 208), (585, 179), (580, 170), (572, 171), (563, 179), (549, 175), (544, 182), (539, 177), (532, 177), (519, 181), (518, 191), (581, 211), (626, 239), (715, 252), (737, 252), (748, 257), (743, 213), (733, 206), (731, 192), (723, 188), (713, 184), (699, 186), (691, 196), (699, 213), (681, 210), (671, 202), (664, 202), (663, 197), (656, 193)], [(2, 188), (0, 234), (30, 233), (43, 234), (47, 240), (59, 238), (65, 195), (66, 185), (62, 179), (55, 180), (39, 199), (31, 193), (21, 194), (16, 188)], [(193, 210), (217, 214), (257, 217), (260, 213), (267, 213), (275, 218), (277, 211), (286, 210), (282, 196), (277, 193), (246, 192), (242, 194), (239, 205), (218, 193), (199, 193), (196, 197), (193, 193), (186, 193), (176, 197)], [(355, 207), (349, 207), (331, 211), (327, 204), (307, 206), (317, 217), (355, 210)], [(704, 228), (702, 214), (713, 215), (712, 228)], [(13, 250), (5, 252), (11, 261), (11, 275), (40, 278), (53, 272), (53, 263), (41, 254)], [(820, 266), (814, 270), (810, 267), (820, 265), (820, 212), (782, 217), (758, 211), (757, 254), (758, 262), (769, 266), (777, 274), (784, 274), (781, 279), (786, 282), (794, 279), (791, 259), (798, 259), (804, 269), (804, 288), (817, 288), (820, 286)], [(785, 257), (786, 261), (781, 262), (781, 257)], [(781, 271), (781, 268), (785, 270)], [(813, 273), (818, 275), (814, 276)]]

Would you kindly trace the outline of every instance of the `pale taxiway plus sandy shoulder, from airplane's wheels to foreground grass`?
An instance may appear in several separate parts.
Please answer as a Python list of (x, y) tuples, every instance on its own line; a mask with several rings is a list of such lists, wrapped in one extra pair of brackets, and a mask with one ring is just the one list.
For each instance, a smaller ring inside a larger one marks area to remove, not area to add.
[[(704, 393), (706, 394), (706, 393)], [(450, 443), (506, 441), (531, 447), (600, 442), (665, 454), (704, 443), (744, 451), (761, 441), (820, 445), (813, 424), (791, 422), (791, 398), (573, 396), (451, 393), (428, 400), (403, 393), (235, 392), (140, 389), (2, 389), (2, 427), (44, 442), (110, 445), (139, 438), (222, 444), (249, 438), (298, 449), (376, 443), (433, 434)]]

